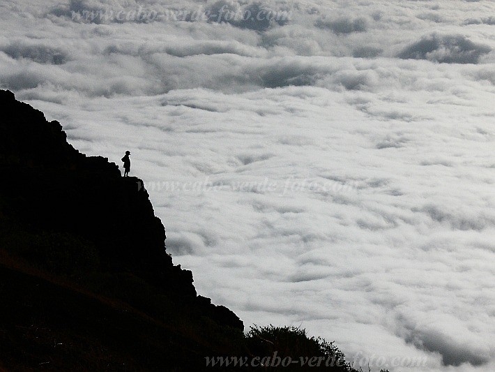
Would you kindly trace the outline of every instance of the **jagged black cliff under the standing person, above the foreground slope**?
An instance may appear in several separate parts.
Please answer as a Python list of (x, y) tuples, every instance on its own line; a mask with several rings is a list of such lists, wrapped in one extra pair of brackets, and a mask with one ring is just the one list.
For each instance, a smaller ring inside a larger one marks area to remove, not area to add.
[[(107, 158), (81, 154), (68, 144), (58, 121), (47, 121), (10, 91), (0, 91), (0, 105), (4, 249), (71, 278), (77, 272), (79, 283), (130, 275), (177, 304), (178, 311), (242, 331), (234, 313), (197, 296), (192, 273), (172, 263), (165, 228), (141, 179), (121, 177)], [(34, 243), (19, 243), (17, 235)], [(47, 256), (47, 251), (55, 253)], [(162, 311), (137, 300), (132, 305)]]

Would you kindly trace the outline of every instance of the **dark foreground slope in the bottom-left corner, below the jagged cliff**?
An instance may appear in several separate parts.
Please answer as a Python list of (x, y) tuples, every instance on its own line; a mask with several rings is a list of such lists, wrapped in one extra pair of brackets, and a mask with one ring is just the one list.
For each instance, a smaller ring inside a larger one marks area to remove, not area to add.
[(115, 300), (0, 265), (0, 370), (187, 371), (218, 352)]

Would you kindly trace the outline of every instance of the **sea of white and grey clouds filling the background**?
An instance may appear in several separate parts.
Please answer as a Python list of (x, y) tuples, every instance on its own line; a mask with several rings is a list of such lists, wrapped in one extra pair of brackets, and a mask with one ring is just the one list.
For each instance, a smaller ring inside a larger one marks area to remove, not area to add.
[(131, 151), (201, 295), (355, 366), (495, 370), (493, 1), (3, 0), (0, 22), (1, 87), (86, 154)]

